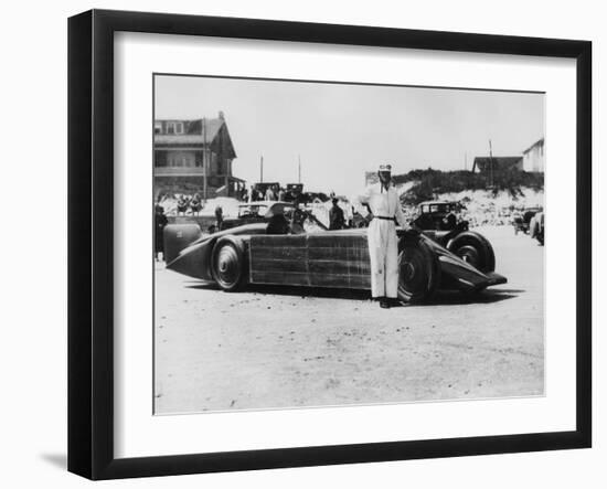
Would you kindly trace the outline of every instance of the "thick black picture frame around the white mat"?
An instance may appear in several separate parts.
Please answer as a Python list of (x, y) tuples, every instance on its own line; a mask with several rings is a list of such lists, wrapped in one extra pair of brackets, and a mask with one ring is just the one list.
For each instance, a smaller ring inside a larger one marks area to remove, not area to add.
[[(576, 428), (145, 458), (114, 455), (114, 34), (119, 31), (576, 61)], [(457, 457), (592, 444), (592, 43), (92, 10), (68, 20), (68, 470), (90, 479)]]

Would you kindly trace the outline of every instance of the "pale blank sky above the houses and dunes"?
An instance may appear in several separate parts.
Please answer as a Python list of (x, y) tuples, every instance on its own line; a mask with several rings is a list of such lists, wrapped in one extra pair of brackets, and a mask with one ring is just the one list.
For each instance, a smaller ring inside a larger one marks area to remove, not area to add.
[(222, 110), (248, 183), (297, 182), (353, 195), (364, 172), (390, 162), (468, 169), (475, 156), (517, 156), (544, 136), (544, 95), (191, 76), (156, 77), (156, 118), (216, 117)]

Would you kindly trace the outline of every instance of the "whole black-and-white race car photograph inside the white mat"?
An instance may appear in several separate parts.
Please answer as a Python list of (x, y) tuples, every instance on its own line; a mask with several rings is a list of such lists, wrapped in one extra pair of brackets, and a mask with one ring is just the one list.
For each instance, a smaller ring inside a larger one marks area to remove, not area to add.
[(545, 395), (545, 93), (152, 84), (156, 415)]

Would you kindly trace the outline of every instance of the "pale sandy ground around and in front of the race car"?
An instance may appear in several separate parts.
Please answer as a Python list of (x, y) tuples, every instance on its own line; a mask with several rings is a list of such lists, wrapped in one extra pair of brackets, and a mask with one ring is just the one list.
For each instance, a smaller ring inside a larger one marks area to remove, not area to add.
[(508, 284), (382, 310), (369, 293), (224, 293), (156, 267), (155, 412), (542, 395), (544, 248), (477, 230)]

